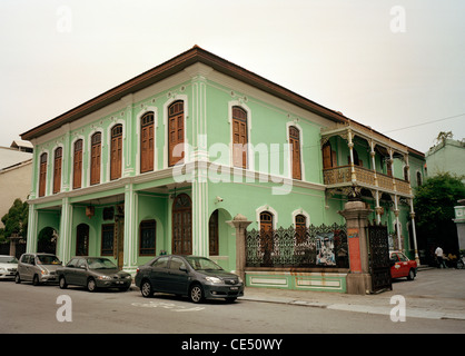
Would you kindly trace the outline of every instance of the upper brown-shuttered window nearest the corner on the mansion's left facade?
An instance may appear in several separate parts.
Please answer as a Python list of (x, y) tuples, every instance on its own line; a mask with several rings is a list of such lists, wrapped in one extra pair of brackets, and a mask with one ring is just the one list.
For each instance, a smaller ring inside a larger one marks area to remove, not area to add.
[(168, 165), (170, 167), (184, 160), (184, 101), (179, 100), (168, 108)]

